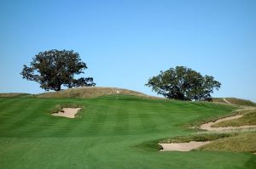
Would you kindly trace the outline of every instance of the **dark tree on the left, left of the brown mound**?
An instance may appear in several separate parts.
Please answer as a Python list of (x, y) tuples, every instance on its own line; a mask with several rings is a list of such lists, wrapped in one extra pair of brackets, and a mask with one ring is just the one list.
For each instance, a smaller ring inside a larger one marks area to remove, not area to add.
[(81, 61), (79, 53), (53, 49), (35, 55), (30, 67), (24, 65), (20, 75), (28, 81), (38, 82), (47, 91), (59, 91), (61, 85), (68, 88), (95, 86), (92, 77), (74, 78), (85, 69), (87, 65)]

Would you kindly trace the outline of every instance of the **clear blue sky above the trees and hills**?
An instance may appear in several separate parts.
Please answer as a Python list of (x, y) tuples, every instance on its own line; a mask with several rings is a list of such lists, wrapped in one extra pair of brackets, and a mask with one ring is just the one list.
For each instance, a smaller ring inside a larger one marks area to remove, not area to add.
[(0, 1), (0, 93), (41, 93), (20, 76), (40, 51), (79, 52), (96, 86), (144, 84), (184, 65), (223, 83), (214, 97), (256, 101), (256, 1)]

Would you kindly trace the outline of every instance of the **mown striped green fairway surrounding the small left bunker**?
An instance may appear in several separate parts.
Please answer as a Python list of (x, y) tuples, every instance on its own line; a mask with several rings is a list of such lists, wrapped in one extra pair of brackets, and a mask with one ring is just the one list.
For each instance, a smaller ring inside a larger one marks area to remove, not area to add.
[[(84, 106), (82, 118), (50, 115), (56, 104)], [(158, 151), (157, 140), (193, 134), (186, 124), (231, 110), (132, 96), (0, 98), (0, 168), (255, 168), (249, 153)]]

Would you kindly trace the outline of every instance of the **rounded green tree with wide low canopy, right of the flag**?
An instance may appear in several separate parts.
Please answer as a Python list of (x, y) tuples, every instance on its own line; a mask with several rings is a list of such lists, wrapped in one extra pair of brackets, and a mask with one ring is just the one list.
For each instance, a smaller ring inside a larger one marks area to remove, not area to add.
[(211, 93), (214, 89), (218, 90), (221, 83), (213, 76), (201, 76), (195, 70), (177, 66), (149, 78), (146, 86), (168, 99), (211, 100)]

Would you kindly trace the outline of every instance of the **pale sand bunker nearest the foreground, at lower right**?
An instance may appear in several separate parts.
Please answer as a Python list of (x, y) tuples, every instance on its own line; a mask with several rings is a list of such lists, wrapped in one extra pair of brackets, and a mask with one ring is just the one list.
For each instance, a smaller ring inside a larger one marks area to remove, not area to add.
[(191, 141), (189, 143), (182, 144), (160, 144), (163, 149), (161, 151), (190, 151), (192, 149), (197, 149), (205, 144), (210, 144), (210, 141), (207, 142), (195, 142)]

